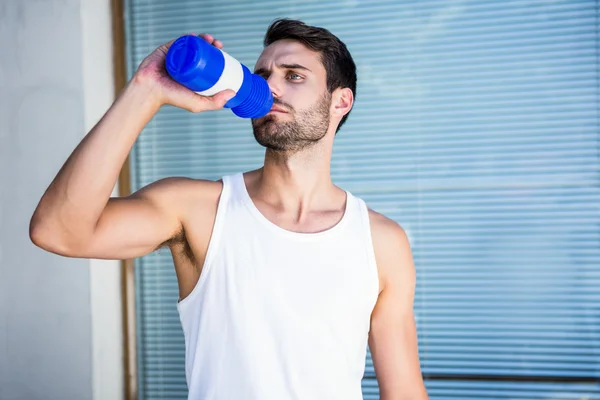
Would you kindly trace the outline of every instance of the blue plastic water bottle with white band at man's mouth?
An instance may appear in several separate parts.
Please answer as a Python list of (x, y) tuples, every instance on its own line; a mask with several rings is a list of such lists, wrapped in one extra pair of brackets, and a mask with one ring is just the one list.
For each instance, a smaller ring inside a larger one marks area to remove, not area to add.
[(273, 106), (271, 89), (235, 58), (204, 39), (186, 35), (173, 42), (165, 60), (175, 81), (203, 96), (231, 89), (236, 95), (225, 107), (241, 118), (260, 118)]

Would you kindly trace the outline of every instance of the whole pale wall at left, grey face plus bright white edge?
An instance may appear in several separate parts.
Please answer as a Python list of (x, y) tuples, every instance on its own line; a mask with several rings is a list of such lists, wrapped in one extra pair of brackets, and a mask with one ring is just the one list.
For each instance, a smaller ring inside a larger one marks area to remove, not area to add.
[(113, 98), (109, 0), (0, 1), (0, 399), (121, 399), (119, 263), (29, 241), (37, 201)]

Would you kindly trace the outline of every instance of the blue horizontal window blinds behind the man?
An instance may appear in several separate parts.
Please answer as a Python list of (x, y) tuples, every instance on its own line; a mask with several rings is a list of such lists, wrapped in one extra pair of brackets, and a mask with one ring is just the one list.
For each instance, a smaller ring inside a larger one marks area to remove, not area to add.
[[(188, 32), (253, 68), (281, 16), (327, 27), (357, 62), (332, 175), (410, 237), (430, 397), (600, 398), (596, 2), (130, 0), (130, 74)], [(134, 186), (262, 160), (229, 110), (165, 107), (134, 148)], [(136, 277), (140, 398), (185, 398), (168, 251)], [(379, 398), (370, 357), (363, 392)]]

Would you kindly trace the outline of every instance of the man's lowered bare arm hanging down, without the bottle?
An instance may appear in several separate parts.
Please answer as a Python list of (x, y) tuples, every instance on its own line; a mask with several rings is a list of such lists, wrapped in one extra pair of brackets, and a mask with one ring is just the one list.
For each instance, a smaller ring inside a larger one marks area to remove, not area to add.
[(381, 400), (428, 399), (413, 313), (415, 268), (404, 230), (370, 212), (380, 294), (371, 316), (369, 347)]

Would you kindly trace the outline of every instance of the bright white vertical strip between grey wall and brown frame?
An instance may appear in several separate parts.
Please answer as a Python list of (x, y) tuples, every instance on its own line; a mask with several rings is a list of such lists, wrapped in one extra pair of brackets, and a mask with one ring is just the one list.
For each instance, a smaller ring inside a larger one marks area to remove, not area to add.
[[(114, 100), (110, 0), (82, 0), (84, 126), (88, 132)], [(113, 195), (117, 195), (116, 187)], [(92, 389), (95, 400), (124, 396), (121, 264), (90, 260)]]

